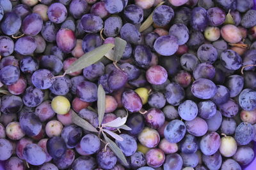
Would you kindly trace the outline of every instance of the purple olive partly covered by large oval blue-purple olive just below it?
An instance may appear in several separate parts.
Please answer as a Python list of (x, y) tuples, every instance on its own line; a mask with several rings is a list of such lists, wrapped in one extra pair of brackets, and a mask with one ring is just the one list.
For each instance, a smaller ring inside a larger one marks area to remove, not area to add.
[(198, 80), (199, 78), (207, 78), (212, 80), (215, 76), (215, 68), (212, 66), (212, 64), (209, 64), (208, 62), (202, 62), (200, 64), (197, 64), (195, 69), (193, 70), (193, 77), (195, 80)]

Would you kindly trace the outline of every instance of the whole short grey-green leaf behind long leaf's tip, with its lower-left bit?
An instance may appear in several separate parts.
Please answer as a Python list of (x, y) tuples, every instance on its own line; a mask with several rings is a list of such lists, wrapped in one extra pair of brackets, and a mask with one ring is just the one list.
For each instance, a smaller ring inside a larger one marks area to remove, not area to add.
[(124, 54), (126, 44), (127, 44), (127, 42), (124, 39), (116, 37), (115, 38), (115, 49), (110, 50), (108, 53), (106, 53), (105, 56), (109, 60), (118, 62), (118, 60), (120, 60)]

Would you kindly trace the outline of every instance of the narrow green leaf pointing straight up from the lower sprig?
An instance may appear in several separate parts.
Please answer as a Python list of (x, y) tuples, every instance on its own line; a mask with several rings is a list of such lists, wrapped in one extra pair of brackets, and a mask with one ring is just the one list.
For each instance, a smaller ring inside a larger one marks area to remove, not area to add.
[(106, 105), (106, 94), (105, 91), (102, 87), (102, 85), (99, 85), (98, 87), (98, 101), (97, 101), (97, 106), (98, 106), (98, 114), (99, 114), (99, 125), (102, 123), (104, 113), (105, 113), (105, 106)]

